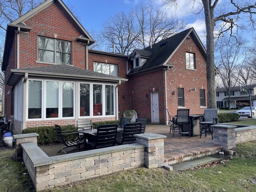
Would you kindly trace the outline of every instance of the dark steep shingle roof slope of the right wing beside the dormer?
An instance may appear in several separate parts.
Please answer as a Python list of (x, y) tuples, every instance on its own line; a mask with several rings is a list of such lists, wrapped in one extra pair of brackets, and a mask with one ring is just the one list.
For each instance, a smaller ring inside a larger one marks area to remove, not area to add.
[(129, 74), (163, 65), (169, 56), (174, 52), (174, 50), (179, 46), (182, 40), (186, 37), (188, 32), (190, 32), (190, 30), (191, 28), (166, 38), (165, 40), (162, 40), (156, 44), (153, 44), (152, 48), (150, 48), (150, 46), (144, 48), (142, 51), (152, 52), (152, 56), (140, 68), (132, 70)]

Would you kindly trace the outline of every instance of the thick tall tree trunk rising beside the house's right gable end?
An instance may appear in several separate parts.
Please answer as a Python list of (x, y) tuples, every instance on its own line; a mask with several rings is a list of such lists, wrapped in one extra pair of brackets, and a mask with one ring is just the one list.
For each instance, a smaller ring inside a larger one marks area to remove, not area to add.
[(216, 109), (216, 88), (214, 70), (214, 13), (208, 0), (202, 0), (206, 25), (206, 76), (207, 76), (207, 108)]

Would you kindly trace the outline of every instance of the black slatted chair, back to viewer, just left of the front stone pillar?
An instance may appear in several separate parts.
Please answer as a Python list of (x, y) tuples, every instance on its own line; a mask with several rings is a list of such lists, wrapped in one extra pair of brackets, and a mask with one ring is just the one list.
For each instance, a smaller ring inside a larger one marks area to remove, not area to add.
[(141, 134), (142, 123), (126, 123), (122, 132), (122, 139), (116, 140), (118, 145), (136, 143), (134, 134)]

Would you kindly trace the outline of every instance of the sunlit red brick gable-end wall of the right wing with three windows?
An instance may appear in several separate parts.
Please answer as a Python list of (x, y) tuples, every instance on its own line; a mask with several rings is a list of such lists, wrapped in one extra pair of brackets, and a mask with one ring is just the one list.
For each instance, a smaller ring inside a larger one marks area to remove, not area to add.
[[(195, 54), (196, 70), (186, 70), (186, 52)], [(207, 80), (206, 80), (206, 59), (196, 46), (192, 36), (186, 39), (178, 48), (169, 63), (174, 65), (167, 72), (167, 103), (172, 116), (177, 114), (178, 91), (177, 88), (184, 88), (184, 106), (190, 109), (190, 114), (203, 114), (204, 108), (200, 108), (200, 89), (205, 90), (205, 103), (207, 105)], [(171, 83), (171, 85), (170, 85)], [(190, 89), (196, 88), (196, 91)], [(175, 91), (176, 94), (172, 95)]]

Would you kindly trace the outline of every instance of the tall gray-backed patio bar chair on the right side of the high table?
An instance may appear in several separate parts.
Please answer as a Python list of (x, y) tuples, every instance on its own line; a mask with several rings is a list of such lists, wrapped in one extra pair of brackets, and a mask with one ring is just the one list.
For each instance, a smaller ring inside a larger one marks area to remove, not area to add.
[(200, 118), (200, 138), (202, 134), (211, 134), (213, 139), (213, 130), (211, 125), (218, 124), (218, 112), (216, 109), (205, 109), (204, 117)]

